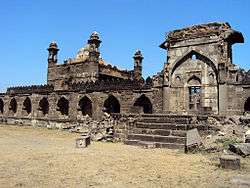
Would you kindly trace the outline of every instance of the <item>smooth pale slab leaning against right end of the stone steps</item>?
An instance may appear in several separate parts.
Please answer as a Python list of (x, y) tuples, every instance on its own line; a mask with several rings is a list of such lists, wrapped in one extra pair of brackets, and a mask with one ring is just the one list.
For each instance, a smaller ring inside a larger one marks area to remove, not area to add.
[(201, 144), (202, 144), (201, 137), (197, 128), (188, 130), (186, 138), (186, 147), (185, 147), (186, 152), (195, 150)]

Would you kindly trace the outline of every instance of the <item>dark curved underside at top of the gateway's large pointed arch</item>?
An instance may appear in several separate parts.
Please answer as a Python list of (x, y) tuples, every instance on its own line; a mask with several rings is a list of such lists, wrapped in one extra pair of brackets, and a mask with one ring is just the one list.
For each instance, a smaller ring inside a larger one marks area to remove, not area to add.
[(194, 51), (194, 50), (191, 50), (191, 51), (187, 52), (186, 54), (184, 54), (184, 56), (177, 59), (173, 63), (172, 70), (171, 70), (171, 76), (173, 75), (173, 73), (177, 69), (177, 67), (179, 67), (186, 60), (192, 59), (193, 56), (196, 57), (195, 60), (201, 60), (204, 63), (208, 64), (208, 66), (211, 66), (214, 73), (215, 73), (216, 79), (217, 79), (218, 71), (217, 71), (217, 68), (216, 68), (215, 64), (213, 63), (213, 61), (210, 58), (208, 58), (207, 56), (201, 54), (201, 52), (197, 52), (197, 51)]

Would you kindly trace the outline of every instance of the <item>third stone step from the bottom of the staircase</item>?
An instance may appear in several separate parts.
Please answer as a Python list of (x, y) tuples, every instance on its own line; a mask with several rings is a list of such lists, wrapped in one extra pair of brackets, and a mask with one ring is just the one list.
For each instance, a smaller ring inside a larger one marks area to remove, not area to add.
[(181, 137), (186, 136), (185, 130), (133, 128), (131, 132), (133, 134), (151, 134), (151, 135), (181, 136)]

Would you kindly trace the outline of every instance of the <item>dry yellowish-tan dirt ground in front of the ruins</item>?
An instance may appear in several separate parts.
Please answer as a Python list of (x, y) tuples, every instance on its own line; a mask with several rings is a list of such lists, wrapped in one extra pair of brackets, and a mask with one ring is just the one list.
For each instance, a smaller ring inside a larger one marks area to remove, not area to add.
[(241, 170), (223, 170), (218, 154), (101, 142), (77, 149), (75, 138), (1, 125), (0, 187), (237, 187), (238, 177), (250, 178), (249, 158), (241, 158)]

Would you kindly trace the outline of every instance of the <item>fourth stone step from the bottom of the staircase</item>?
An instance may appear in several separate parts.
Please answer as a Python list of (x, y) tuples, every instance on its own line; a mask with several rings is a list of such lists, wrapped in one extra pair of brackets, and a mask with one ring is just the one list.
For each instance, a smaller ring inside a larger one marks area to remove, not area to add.
[(147, 129), (187, 130), (188, 125), (176, 123), (136, 122), (135, 127)]

